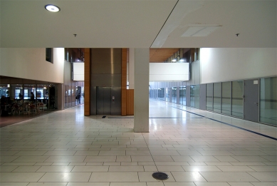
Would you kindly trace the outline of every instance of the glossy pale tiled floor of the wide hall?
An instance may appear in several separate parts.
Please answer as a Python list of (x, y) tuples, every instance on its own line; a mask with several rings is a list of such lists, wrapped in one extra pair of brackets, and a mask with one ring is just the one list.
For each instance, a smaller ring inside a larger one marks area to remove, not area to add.
[(0, 185), (277, 185), (275, 127), (154, 100), (150, 133), (102, 116), (80, 105), (0, 128)]

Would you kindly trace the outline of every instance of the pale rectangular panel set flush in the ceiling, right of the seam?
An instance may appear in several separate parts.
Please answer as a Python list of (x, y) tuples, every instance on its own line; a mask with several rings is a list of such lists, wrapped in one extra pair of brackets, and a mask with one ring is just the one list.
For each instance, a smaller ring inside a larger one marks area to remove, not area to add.
[(218, 29), (220, 26), (189, 26), (181, 37), (204, 37)]

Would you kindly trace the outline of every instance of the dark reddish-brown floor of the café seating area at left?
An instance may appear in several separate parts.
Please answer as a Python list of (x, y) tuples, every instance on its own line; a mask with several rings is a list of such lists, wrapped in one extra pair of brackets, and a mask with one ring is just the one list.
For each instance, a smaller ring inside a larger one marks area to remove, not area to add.
[(6, 127), (8, 125), (12, 125), (14, 123), (19, 123), (24, 120), (30, 120), (31, 118), (36, 118), (41, 115), (46, 115), (48, 113), (53, 113), (56, 112), (57, 110), (44, 110), (41, 113), (37, 114), (20, 114), (20, 115), (13, 115), (12, 113), (9, 114), (8, 116), (0, 116), (0, 128)]

